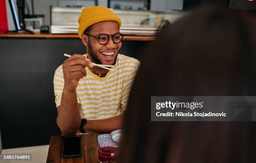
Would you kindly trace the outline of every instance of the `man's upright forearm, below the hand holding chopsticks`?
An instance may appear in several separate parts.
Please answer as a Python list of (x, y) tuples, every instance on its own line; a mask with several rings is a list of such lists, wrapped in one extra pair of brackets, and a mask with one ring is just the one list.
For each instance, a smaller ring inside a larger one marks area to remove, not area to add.
[(79, 129), (81, 116), (75, 90), (63, 90), (61, 105), (58, 108), (57, 124), (64, 135), (74, 135)]

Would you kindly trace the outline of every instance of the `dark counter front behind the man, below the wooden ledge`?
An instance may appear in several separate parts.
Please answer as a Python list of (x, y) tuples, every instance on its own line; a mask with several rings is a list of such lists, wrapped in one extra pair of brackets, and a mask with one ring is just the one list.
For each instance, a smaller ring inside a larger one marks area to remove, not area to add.
[[(147, 41), (123, 41), (138, 58)], [(49, 144), (56, 125), (53, 77), (64, 53), (86, 53), (80, 39), (0, 38), (0, 130), (3, 149)]]

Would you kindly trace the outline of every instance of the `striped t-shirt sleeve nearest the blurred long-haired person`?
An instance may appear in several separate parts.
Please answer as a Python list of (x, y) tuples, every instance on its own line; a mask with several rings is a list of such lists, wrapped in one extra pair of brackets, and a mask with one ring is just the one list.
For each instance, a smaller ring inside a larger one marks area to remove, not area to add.
[(128, 71), (126, 71), (125, 80), (123, 83), (123, 91), (122, 91), (121, 112), (125, 111), (127, 108), (133, 80), (136, 76), (139, 66), (140, 66), (140, 62), (134, 59), (134, 61), (131, 62), (131, 64), (129, 64)]

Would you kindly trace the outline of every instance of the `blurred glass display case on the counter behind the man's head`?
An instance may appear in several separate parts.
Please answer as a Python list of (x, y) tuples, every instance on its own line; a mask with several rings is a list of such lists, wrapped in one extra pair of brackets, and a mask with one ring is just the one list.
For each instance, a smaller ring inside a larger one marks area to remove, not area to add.
[[(155, 36), (165, 23), (164, 12), (111, 9), (122, 20), (120, 33)], [(82, 8), (51, 7), (51, 33), (77, 33)]]

